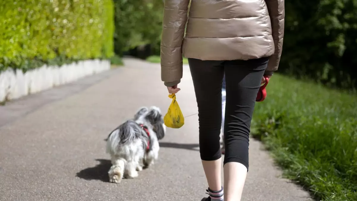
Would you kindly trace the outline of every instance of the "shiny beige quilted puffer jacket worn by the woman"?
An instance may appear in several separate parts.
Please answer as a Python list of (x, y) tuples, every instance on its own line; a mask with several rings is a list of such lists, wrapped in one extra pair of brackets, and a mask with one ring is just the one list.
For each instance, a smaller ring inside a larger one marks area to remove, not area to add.
[[(266, 74), (278, 69), (284, 36), (284, 0), (165, 0), (161, 80), (182, 78), (182, 53), (201, 60), (270, 56)], [(184, 37), (185, 35), (185, 37)]]

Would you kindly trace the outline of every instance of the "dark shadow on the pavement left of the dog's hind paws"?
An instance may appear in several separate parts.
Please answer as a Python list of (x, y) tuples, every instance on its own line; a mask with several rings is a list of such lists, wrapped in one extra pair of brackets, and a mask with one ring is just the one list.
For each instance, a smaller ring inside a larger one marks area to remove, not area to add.
[(89, 167), (80, 172), (77, 172), (76, 176), (85, 180), (100, 180), (103, 182), (109, 182), (108, 170), (111, 167), (110, 160), (96, 159), (99, 162), (94, 167)]

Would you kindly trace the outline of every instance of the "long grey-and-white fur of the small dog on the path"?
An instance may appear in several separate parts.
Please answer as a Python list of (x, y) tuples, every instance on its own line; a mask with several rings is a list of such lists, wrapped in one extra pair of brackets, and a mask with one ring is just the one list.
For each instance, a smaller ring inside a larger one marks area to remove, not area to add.
[[(146, 131), (140, 126), (147, 127)], [(159, 156), (159, 140), (166, 127), (158, 107), (142, 107), (134, 119), (122, 123), (107, 138), (106, 152), (111, 156), (109, 181), (119, 183), (123, 177), (135, 178), (138, 171), (154, 164)], [(150, 143), (150, 149), (147, 145)]]

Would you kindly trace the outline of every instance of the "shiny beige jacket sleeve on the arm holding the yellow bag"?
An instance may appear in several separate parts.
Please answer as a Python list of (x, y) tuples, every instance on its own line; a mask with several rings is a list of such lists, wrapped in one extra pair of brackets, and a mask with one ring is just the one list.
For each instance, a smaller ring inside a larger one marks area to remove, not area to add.
[(161, 34), (161, 80), (171, 87), (182, 78), (182, 40), (190, 0), (165, 0)]

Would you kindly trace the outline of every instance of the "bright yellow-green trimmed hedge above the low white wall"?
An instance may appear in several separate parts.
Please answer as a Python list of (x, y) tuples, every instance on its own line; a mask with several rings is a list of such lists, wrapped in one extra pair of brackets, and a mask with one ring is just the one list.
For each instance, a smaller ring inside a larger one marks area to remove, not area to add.
[(0, 70), (110, 58), (112, 0), (1, 0)]

